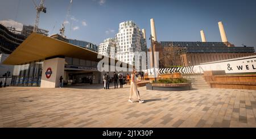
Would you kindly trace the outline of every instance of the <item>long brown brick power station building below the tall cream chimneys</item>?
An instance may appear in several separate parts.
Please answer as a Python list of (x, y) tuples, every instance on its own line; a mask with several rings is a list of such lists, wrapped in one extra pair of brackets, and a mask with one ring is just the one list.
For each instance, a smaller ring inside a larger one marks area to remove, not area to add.
[(229, 42), (155, 41), (153, 49), (159, 52), (159, 68), (256, 55), (254, 47), (234, 47)]

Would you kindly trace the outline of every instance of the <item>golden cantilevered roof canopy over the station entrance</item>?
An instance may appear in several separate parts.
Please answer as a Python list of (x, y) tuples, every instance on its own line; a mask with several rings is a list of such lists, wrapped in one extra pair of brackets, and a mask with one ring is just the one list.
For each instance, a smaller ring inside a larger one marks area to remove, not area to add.
[[(38, 33), (32, 33), (2, 64), (20, 65), (56, 56), (79, 58), (96, 62), (102, 60), (97, 58), (98, 53), (92, 50), (77, 47), (76, 45), (65, 43), (64, 41), (56, 40)], [(111, 58), (109, 58), (109, 61), (110, 59)], [(117, 61), (118, 60), (115, 60), (115, 62)], [(129, 67), (129, 65), (127, 65), (127, 67)]]

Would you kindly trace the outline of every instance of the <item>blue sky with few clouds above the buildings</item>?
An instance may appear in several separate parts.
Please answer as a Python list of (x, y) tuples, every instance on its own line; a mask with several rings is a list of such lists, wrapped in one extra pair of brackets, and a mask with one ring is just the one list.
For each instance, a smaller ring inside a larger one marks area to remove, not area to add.
[[(41, 14), (39, 27), (59, 33), (69, 2), (45, 0), (47, 14)], [(98, 45), (118, 32), (119, 23), (133, 20), (148, 37), (154, 18), (158, 41), (201, 41), (200, 30), (207, 41), (221, 41), (222, 21), (230, 43), (256, 48), (255, 7), (254, 0), (73, 0), (65, 35)], [(32, 0), (1, 0), (0, 20), (34, 25), (35, 17)]]

